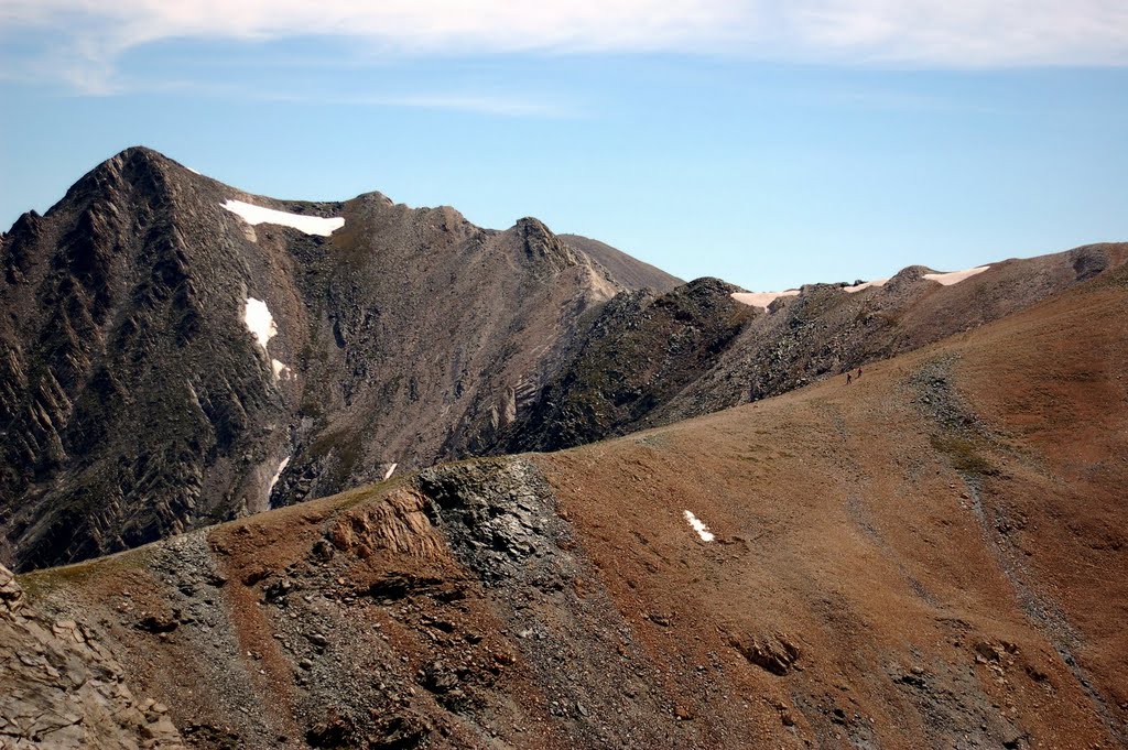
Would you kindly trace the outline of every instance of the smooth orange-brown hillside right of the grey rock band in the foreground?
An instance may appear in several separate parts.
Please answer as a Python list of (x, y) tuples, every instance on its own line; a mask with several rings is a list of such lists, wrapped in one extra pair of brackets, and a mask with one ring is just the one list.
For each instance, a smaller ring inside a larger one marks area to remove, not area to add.
[[(918, 747), (960, 744), (961, 714), (1031, 745), (1107, 747), (1128, 718), (1126, 314), (1113, 281), (848, 387), (537, 460), (651, 655), (721, 655), (729, 699), (693, 671), (668, 685), (699, 721), (747, 723), (765, 745)], [(954, 456), (936, 450), (951, 439), (914, 383), (949, 360), (981, 423)], [(970, 474), (953, 468), (969, 459)], [(699, 541), (685, 510), (719, 541)], [(776, 633), (802, 671), (777, 677), (730, 645)], [(914, 668), (927, 690), (898, 681)], [(845, 722), (820, 721), (835, 707)]]

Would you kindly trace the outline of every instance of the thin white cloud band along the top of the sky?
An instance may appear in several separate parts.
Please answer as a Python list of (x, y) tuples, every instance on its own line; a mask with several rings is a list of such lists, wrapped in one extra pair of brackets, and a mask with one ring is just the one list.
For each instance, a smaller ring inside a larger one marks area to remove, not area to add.
[(377, 55), (668, 52), (911, 68), (1128, 64), (1125, 0), (3, 0), (0, 38), (20, 29), (50, 39), (28, 61), (88, 91), (108, 86), (125, 52), (167, 39), (347, 37)]

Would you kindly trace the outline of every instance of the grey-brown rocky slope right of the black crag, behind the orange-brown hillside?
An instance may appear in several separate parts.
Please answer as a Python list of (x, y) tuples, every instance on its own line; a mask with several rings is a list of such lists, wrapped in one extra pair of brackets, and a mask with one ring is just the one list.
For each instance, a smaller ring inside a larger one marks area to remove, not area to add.
[(998, 320), (1120, 267), (1128, 244), (992, 263), (958, 284), (908, 266), (883, 286), (848, 293), (810, 284), (782, 298), (733, 339), (710, 371), (647, 416), (656, 426), (776, 396), (821, 377), (885, 360)]

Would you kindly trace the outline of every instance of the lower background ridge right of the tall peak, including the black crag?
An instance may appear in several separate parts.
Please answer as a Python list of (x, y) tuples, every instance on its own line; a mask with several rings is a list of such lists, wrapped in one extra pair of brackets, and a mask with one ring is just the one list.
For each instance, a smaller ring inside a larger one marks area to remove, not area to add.
[(785, 394), (1005, 318), (1128, 262), (1128, 244), (992, 264), (943, 285), (909, 266), (880, 285), (810, 284), (766, 308), (699, 279), (601, 308), (495, 452), (557, 450)]

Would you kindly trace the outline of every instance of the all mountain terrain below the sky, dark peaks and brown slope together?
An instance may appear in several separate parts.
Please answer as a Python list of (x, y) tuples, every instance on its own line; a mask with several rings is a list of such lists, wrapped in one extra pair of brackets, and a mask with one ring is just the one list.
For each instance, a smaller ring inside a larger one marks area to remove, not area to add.
[(1128, 747), (1126, 261), (751, 293), (129, 149), (0, 238), (0, 747)]

